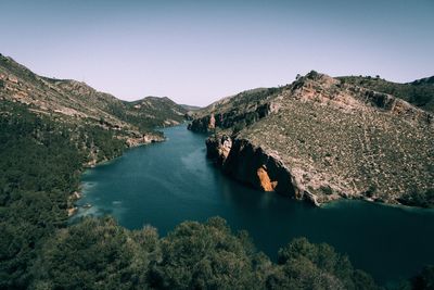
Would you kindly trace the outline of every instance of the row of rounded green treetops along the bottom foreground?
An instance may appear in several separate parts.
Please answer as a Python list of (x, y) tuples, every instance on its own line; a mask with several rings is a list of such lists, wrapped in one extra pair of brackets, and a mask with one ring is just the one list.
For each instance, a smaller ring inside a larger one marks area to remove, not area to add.
[(46, 242), (33, 275), (36, 289), (378, 289), (330, 245), (296, 239), (275, 264), (219, 217), (162, 239), (151, 227), (85, 218)]

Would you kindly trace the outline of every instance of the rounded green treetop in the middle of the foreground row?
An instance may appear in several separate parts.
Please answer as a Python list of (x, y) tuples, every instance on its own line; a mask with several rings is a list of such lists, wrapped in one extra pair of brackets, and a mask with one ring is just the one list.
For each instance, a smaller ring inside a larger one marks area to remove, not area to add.
[(231, 234), (226, 220), (180, 224), (162, 241), (163, 260), (152, 270), (159, 289), (255, 289), (253, 247)]

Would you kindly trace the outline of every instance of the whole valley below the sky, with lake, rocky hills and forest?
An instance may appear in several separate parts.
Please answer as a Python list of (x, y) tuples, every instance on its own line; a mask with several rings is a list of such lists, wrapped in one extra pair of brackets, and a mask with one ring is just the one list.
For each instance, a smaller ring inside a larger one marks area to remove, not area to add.
[(431, 210), (336, 201), (432, 206), (429, 111), (315, 72), (204, 109), (122, 101), (3, 55), (0, 80), (0, 288), (379, 289), (430, 277)]

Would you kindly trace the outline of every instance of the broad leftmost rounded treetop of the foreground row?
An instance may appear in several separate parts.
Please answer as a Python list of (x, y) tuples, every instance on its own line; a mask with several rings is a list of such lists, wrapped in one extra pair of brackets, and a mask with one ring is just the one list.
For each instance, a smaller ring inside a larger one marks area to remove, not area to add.
[(149, 264), (158, 259), (155, 229), (128, 231), (110, 217), (85, 218), (43, 247), (35, 266), (35, 288), (142, 289)]

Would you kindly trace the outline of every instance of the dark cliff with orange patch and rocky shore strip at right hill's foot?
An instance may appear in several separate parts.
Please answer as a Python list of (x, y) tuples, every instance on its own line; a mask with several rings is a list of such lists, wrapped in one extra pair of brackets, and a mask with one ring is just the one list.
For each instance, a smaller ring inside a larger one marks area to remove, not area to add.
[[(196, 134), (188, 127), (189, 130)], [(200, 133), (201, 134), (201, 133)], [(298, 201), (307, 201), (316, 207), (339, 200), (363, 200), (388, 206), (432, 210), (433, 206), (406, 204), (393, 193), (368, 196), (358, 190), (346, 193), (342, 188), (328, 185), (330, 193), (320, 192), (304, 182), (299, 173), (289, 168), (276, 153), (269, 153), (254, 146), (247, 139), (237, 139), (225, 134), (209, 136), (206, 141), (206, 155), (215, 166), (228, 177), (264, 192), (273, 192)], [(395, 197), (395, 198), (394, 198)], [(404, 197), (404, 196), (403, 196)]]

